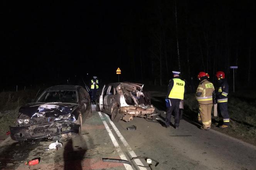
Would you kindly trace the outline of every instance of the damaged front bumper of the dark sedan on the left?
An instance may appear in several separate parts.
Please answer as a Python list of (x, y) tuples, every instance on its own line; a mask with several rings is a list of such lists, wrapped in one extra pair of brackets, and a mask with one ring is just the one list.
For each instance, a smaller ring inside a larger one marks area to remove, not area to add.
[(52, 138), (66, 133), (78, 133), (79, 124), (68, 122), (54, 122), (45, 125), (31, 125), (24, 127), (9, 127), (12, 140), (25, 141), (29, 139)]

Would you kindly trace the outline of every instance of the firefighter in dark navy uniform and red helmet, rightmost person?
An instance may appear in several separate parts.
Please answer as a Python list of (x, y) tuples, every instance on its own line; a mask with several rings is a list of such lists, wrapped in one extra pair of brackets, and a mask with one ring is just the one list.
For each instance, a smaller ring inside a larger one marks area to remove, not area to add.
[(216, 89), (217, 110), (219, 115), (218, 127), (227, 128), (229, 127), (229, 113), (227, 112), (227, 95), (229, 93), (229, 85), (224, 72), (216, 72), (216, 77), (218, 79), (218, 88)]

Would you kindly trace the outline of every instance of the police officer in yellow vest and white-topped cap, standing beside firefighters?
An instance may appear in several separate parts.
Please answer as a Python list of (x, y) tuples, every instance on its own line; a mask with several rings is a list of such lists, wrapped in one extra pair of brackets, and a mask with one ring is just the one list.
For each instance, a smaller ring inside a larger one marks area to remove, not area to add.
[(179, 105), (180, 100), (184, 99), (185, 82), (180, 79), (180, 72), (172, 71), (172, 73), (173, 79), (169, 82), (167, 97), (165, 98), (165, 102), (167, 103), (167, 114), (163, 126), (166, 128), (170, 127), (172, 111), (174, 110), (174, 125), (175, 129), (177, 129), (180, 125)]

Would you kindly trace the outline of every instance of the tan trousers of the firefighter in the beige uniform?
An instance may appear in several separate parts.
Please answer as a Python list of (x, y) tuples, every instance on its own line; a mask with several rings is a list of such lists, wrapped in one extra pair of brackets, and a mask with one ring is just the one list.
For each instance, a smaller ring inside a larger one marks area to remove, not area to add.
[(199, 113), (204, 128), (211, 128), (212, 123), (212, 104), (202, 105), (199, 104)]

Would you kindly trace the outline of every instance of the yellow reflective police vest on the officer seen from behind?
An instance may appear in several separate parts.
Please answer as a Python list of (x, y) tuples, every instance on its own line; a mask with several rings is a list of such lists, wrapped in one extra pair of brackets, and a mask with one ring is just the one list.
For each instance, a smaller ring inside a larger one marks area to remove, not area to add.
[(179, 78), (173, 78), (173, 87), (168, 98), (184, 99), (185, 82)]

